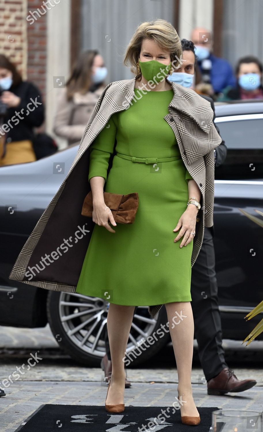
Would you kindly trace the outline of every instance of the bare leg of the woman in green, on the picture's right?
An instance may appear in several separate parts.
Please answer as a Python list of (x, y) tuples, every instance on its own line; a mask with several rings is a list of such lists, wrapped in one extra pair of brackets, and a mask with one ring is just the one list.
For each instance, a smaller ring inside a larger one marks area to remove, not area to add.
[[(177, 365), (178, 399), (181, 398), (183, 403), (183, 405), (180, 404), (181, 416), (198, 417), (199, 413), (193, 400), (191, 384), (194, 330), (191, 303), (172, 302), (166, 303), (165, 307)], [(178, 406), (178, 402), (175, 406)]]

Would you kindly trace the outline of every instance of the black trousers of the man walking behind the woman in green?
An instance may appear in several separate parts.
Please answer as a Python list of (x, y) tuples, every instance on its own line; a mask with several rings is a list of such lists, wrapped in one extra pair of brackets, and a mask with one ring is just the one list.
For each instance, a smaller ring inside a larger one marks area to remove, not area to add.
[[(218, 375), (225, 363), (222, 347), (222, 327), (215, 275), (215, 250), (210, 228), (205, 227), (203, 244), (192, 267), (191, 297), (195, 338), (206, 381)], [(136, 309), (134, 313), (136, 313)], [(108, 333), (105, 335), (106, 353), (111, 360)]]

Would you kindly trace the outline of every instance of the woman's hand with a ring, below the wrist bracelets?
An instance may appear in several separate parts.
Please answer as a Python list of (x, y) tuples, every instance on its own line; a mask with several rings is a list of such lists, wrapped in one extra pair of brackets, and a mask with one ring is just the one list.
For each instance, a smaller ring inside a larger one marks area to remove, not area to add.
[(173, 231), (177, 231), (180, 227), (180, 232), (178, 232), (177, 237), (174, 239), (174, 243), (177, 240), (180, 240), (181, 237), (184, 238), (181, 241), (180, 248), (183, 246), (186, 246), (190, 243), (190, 241), (193, 240), (193, 234), (190, 234), (191, 232), (195, 232), (196, 227), (196, 215), (198, 213), (198, 210), (195, 205), (189, 204), (187, 206), (187, 209), (182, 214), (181, 218), (178, 220), (177, 226), (174, 228)]

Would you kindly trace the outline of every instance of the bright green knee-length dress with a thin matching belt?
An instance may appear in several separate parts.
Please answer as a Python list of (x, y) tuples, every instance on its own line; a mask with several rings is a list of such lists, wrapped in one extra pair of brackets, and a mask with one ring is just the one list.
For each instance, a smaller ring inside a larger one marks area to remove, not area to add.
[[(173, 232), (187, 208), (191, 175), (181, 159), (174, 132), (165, 121), (173, 90), (135, 88), (127, 110), (112, 114), (91, 145), (89, 181), (105, 178), (106, 192), (138, 192), (139, 206), (133, 224), (94, 226), (76, 292), (107, 299), (118, 305), (150, 306), (191, 301), (193, 241), (180, 248)], [(114, 151), (142, 158), (180, 156), (156, 166), (132, 162)]]

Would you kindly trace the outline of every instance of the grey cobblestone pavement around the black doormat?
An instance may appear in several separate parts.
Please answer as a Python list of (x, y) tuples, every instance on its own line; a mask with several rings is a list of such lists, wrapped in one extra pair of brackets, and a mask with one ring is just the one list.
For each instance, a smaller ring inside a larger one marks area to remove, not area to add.
[[(209, 396), (206, 384), (201, 384), (203, 371), (194, 356), (192, 383), (196, 406), (263, 411), (263, 343), (254, 341), (250, 347), (241, 348), (239, 342), (224, 341), (224, 348), (226, 358), (230, 359), (228, 366), (238, 378), (255, 378), (257, 385), (242, 393)], [(15, 431), (43, 403), (104, 406), (107, 387), (101, 369), (82, 367), (61, 353), (48, 326), (0, 327), (1, 383), (16, 366), (27, 364), (30, 353), (33, 356), (37, 353), (41, 360), (30, 370), (25, 368), (19, 380), (6, 388), (6, 397), (0, 398), (1, 432)], [(252, 363), (255, 358), (261, 358), (261, 362)], [(127, 406), (168, 407), (174, 402), (178, 381), (171, 345), (163, 350), (162, 356), (155, 356), (151, 365), (127, 368), (127, 373), (132, 382), (132, 387), (125, 389)]]

